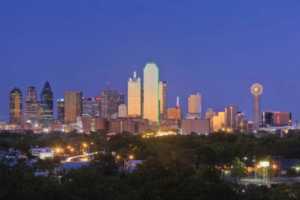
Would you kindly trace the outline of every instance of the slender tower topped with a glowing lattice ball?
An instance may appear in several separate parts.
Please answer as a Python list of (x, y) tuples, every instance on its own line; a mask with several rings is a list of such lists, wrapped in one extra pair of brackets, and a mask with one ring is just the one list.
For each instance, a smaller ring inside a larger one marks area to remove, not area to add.
[(253, 94), (253, 130), (259, 130), (259, 94), (262, 92), (262, 86), (255, 83), (251, 86)]

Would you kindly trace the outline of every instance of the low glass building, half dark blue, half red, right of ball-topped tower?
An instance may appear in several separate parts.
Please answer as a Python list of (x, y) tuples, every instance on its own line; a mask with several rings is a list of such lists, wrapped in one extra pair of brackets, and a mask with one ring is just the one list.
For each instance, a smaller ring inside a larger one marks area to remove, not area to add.
[(274, 112), (264, 110), (261, 113), (261, 126), (288, 126), (291, 125), (291, 112)]

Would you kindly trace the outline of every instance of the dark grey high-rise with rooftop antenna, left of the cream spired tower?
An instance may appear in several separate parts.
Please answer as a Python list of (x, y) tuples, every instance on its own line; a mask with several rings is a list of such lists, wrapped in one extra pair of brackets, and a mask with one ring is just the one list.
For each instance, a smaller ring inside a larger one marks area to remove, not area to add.
[(101, 91), (101, 117), (110, 119), (112, 114), (117, 113), (117, 90), (107, 89)]

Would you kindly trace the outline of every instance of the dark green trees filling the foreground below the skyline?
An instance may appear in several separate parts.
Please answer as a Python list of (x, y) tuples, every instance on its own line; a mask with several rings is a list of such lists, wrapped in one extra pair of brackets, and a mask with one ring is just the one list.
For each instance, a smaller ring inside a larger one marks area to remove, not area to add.
[[(21, 137), (0, 133), (0, 150), (15, 148), (28, 152), (30, 145), (57, 146), (69, 154), (67, 145), (89, 143), (90, 151), (116, 151), (134, 159), (142, 159), (131, 173), (119, 170), (110, 153), (95, 154), (89, 165), (63, 172), (59, 176), (37, 176), (36, 167), (59, 164), (56, 159), (37, 160), (31, 167), (25, 159), (14, 166), (0, 160), (0, 199), (300, 199), (300, 184), (280, 183), (243, 185), (224, 181), (214, 165), (230, 162), (243, 166), (237, 158), (256, 155), (265, 159), (268, 154), (299, 158), (300, 140), (294, 135), (284, 138), (276, 134), (214, 132), (209, 135), (115, 135), (109, 139), (105, 133), (89, 135), (72, 132), (70, 135), (55, 133)], [(292, 138), (292, 139), (291, 139)], [(194, 156), (197, 156), (194, 159)], [(236, 158), (235, 158), (236, 157)], [(233, 161), (232, 161), (233, 160)], [(194, 171), (194, 161), (196, 171)], [(246, 163), (247, 164), (247, 163)], [(250, 164), (250, 162), (249, 162)], [(242, 168), (242, 167), (241, 167)], [(52, 167), (49, 170), (53, 170)], [(233, 170), (233, 169), (232, 169)], [(236, 170), (243, 177), (244, 171)]]

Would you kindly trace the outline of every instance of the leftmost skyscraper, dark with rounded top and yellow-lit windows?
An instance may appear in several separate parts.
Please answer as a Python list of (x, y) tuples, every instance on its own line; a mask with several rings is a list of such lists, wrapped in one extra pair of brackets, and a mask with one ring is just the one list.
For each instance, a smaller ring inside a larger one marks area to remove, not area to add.
[(16, 86), (9, 95), (9, 123), (13, 125), (21, 124), (22, 113), (22, 92)]

